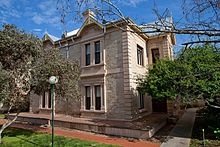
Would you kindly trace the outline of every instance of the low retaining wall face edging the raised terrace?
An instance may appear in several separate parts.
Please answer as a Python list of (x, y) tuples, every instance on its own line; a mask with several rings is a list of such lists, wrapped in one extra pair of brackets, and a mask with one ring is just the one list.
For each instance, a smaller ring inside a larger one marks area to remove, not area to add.
[[(13, 117), (13, 116), (9, 116)], [(51, 124), (51, 120), (48, 118), (33, 118), (26, 116), (18, 116), (18, 122), (26, 122), (34, 125), (48, 125)], [(165, 126), (166, 121), (161, 121), (154, 126), (147, 126), (142, 129), (132, 129), (126, 127), (116, 127), (116, 126), (107, 126), (103, 124), (89, 124), (89, 123), (78, 123), (78, 122), (69, 122), (65, 120), (54, 120), (55, 127), (77, 129), (82, 131), (94, 132), (99, 134), (114, 135), (114, 136), (123, 136), (131, 137), (138, 139), (147, 139), (152, 137), (159, 129)]]

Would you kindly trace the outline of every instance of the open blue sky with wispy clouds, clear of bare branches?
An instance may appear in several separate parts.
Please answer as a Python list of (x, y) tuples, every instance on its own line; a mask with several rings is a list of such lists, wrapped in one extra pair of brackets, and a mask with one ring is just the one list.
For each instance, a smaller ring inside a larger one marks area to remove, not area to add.
[[(153, 12), (155, 6), (160, 13), (169, 9), (173, 20), (182, 18), (182, 0), (122, 0), (117, 4), (125, 16), (131, 17), (137, 24), (149, 23), (156, 20)], [(72, 31), (80, 27), (68, 16), (66, 26), (60, 22), (60, 13), (56, 8), (57, 0), (0, 0), (0, 25), (14, 24), (28, 33), (33, 33), (41, 38), (45, 32), (61, 37), (64, 28)], [(177, 35), (176, 50), (181, 48), (181, 43), (187, 37)]]

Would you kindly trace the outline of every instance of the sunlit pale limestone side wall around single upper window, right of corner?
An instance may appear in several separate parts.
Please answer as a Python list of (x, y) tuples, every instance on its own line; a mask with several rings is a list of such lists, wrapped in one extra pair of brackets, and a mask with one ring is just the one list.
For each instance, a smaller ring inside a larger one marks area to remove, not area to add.
[[(143, 115), (143, 112), (152, 112), (151, 98), (147, 95), (144, 96), (144, 109), (139, 109), (139, 99), (137, 88), (137, 78), (142, 77), (147, 73), (148, 57), (147, 57), (147, 45), (146, 40), (140, 37), (138, 34), (128, 32), (128, 50), (129, 50), (129, 86), (130, 86), (130, 98), (132, 101), (132, 118)], [(139, 65), (137, 62), (137, 46), (143, 49), (143, 65)], [(141, 113), (141, 114), (140, 114)]]

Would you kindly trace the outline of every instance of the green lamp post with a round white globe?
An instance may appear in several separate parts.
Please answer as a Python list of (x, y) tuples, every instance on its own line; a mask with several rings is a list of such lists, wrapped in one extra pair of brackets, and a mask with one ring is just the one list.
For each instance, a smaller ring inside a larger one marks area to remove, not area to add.
[(54, 147), (54, 87), (55, 84), (58, 82), (58, 78), (55, 76), (51, 76), (49, 78), (49, 83), (51, 84), (51, 101), (52, 101), (52, 147)]

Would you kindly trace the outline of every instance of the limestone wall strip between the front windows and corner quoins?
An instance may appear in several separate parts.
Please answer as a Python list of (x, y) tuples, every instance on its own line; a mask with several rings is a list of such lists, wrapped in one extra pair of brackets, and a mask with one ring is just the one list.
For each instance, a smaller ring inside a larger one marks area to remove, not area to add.
[[(123, 58), (124, 42), (121, 30), (111, 29), (105, 34), (105, 70), (106, 70), (106, 117), (130, 119), (130, 102), (124, 95)], [(126, 64), (128, 66), (128, 64)]]

